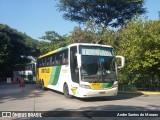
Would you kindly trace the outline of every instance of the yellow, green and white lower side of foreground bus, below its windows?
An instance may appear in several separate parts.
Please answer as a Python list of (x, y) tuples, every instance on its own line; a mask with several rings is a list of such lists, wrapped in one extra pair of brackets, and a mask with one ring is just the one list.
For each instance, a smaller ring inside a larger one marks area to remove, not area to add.
[(67, 83), (70, 94), (75, 95), (73, 88), (77, 88), (78, 84), (74, 85), (71, 80), (69, 65), (39, 68), (38, 73), (37, 80), (43, 80), (46, 88), (63, 92), (64, 83)]

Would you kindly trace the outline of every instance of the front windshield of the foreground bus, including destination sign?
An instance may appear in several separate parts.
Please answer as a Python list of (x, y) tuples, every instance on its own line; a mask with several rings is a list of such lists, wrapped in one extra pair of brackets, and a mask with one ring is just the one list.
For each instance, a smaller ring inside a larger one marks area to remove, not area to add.
[(85, 82), (111, 82), (117, 80), (115, 56), (112, 48), (80, 46), (82, 55), (81, 78)]

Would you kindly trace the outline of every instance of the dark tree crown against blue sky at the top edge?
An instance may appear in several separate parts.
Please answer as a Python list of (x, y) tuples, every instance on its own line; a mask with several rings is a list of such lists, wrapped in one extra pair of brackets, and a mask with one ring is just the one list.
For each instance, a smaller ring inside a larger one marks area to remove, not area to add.
[(103, 28), (123, 26), (136, 14), (144, 14), (144, 0), (60, 0), (59, 11), (66, 20), (93, 21)]

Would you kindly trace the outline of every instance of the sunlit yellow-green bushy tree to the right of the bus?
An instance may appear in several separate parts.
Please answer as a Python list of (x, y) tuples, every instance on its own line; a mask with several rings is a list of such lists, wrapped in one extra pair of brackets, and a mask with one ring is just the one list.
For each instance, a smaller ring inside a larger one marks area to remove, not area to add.
[(119, 31), (117, 39), (117, 53), (126, 58), (121, 80), (131, 84), (160, 78), (160, 21), (133, 19)]

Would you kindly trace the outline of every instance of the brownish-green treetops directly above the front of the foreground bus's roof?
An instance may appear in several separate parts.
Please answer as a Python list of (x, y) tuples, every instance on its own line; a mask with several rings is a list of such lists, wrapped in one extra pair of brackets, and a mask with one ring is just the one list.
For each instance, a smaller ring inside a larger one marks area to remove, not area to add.
[(118, 41), (113, 30), (94, 26), (93, 22), (89, 21), (84, 30), (80, 27), (74, 28), (69, 43), (98, 43), (111, 45), (117, 48)]

